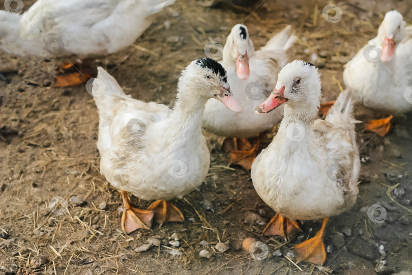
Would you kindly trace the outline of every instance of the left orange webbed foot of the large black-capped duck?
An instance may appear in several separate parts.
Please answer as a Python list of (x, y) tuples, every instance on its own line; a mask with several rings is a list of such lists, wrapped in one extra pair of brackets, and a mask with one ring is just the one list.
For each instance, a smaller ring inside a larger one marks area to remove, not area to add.
[(127, 192), (120, 190), (123, 199), (122, 229), (129, 234), (139, 228), (150, 229), (152, 227), (155, 211), (142, 210), (130, 205)]

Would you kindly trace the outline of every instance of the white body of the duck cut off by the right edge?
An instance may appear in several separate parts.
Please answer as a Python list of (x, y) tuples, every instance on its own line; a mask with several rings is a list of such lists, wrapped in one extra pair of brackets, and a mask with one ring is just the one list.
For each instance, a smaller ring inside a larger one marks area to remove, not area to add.
[[(387, 17), (386, 20), (385, 24), (389, 24)], [(379, 30), (384, 27), (384, 22)], [(404, 28), (403, 24), (404, 22), (401, 23), (401, 28)], [(405, 37), (397, 42), (391, 61), (382, 62), (378, 60), (379, 56), (374, 57), (374, 54), (379, 54), (382, 46), (381, 36), (384, 34), (379, 33), (346, 64), (343, 80), (357, 103), (384, 114), (412, 110), (411, 99), (405, 98), (406, 89), (412, 86), (412, 26), (405, 30)], [(373, 47), (375, 51), (369, 57), (369, 49)]]

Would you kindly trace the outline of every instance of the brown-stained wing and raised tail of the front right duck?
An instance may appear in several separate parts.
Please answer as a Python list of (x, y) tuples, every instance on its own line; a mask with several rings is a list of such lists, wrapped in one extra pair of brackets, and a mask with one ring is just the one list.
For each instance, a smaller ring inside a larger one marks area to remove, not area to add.
[(317, 144), (327, 153), (327, 174), (335, 180), (344, 195), (358, 194), (360, 171), (359, 150), (356, 144), (353, 103), (348, 92), (339, 95), (325, 120), (316, 120), (314, 133)]

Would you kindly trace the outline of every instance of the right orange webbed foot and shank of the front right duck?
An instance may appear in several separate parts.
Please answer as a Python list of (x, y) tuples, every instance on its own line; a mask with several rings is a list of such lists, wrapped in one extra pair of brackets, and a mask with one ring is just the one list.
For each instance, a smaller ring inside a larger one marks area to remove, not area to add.
[(313, 238), (295, 245), (295, 257), (298, 262), (311, 262), (318, 265), (325, 262), (326, 252), (323, 235), (325, 234), (328, 219), (329, 217), (323, 218), (322, 227)]

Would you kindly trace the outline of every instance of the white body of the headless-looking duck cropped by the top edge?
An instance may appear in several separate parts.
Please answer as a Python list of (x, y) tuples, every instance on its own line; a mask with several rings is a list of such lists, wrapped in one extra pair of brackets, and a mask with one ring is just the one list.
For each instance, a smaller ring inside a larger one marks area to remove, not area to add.
[(105, 55), (131, 45), (151, 24), (150, 16), (173, 3), (38, 0), (22, 15), (0, 11), (0, 49), (19, 56)]

